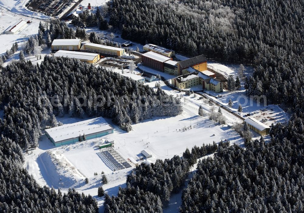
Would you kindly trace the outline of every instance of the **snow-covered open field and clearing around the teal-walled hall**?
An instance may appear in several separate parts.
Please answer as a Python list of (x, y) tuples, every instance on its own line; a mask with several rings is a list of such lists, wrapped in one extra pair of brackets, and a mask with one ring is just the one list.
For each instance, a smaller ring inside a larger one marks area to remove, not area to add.
[[(184, 112), (175, 117), (156, 117), (134, 124), (131, 132), (122, 131), (112, 123), (111, 119), (106, 119), (115, 128), (114, 133), (108, 136), (115, 140), (115, 149), (125, 159), (133, 157), (141, 162), (140, 159), (143, 156), (140, 151), (149, 150), (153, 155), (150, 160), (154, 162), (156, 159), (171, 158), (174, 155), (181, 156), (187, 147), (201, 146), (203, 143), (208, 144), (213, 143), (213, 141), (217, 143), (221, 139), (229, 139), (232, 144), (243, 143), (243, 139), (237, 132), (226, 126), (214, 125), (214, 122), (208, 118), (198, 116), (199, 105), (202, 105), (206, 111), (211, 110), (211, 106), (205, 103), (205, 99), (199, 100), (199, 97), (197, 95), (195, 97), (195, 94), (184, 96), (185, 93), (168, 88), (164, 82), (157, 82), (161, 84), (166, 93), (174, 96), (183, 95)], [(155, 83), (156, 81), (145, 84), (154, 88)], [(223, 115), (231, 122), (237, 121), (230, 113), (223, 112)], [(64, 124), (80, 120), (68, 116), (58, 118), (58, 121)], [(190, 127), (190, 125), (191, 128), (187, 131), (179, 131), (179, 129), (185, 126)], [(215, 136), (212, 136), (212, 134), (215, 134)], [(131, 168), (113, 171), (98, 156), (99, 150), (95, 148), (98, 140), (92, 139), (55, 148), (43, 135), (38, 149), (33, 150), (33, 154), (25, 155), (26, 163), (24, 167), (30, 174), (33, 174), (33, 177), (41, 185), (60, 187), (62, 191), (67, 191), (68, 186), (75, 187), (80, 192), (94, 196), (98, 204), (101, 205), (103, 198), (97, 197), (97, 187), (102, 184), (101, 172), (103, 171), (109, 180), (109, 183), (103, 185), (103, 188), (110, 195), (116, 195), (118, 187), (125, 186), (126, 175)], [(48, 154), (47, 151), (50, 151), (51, 154)], [(50, 157), (52, 154), (55, 156)], [(94, 175), (95, 172), (98, 173), (97, 176)], [(89, 184), (84, 184), (82, 176), (89, 178)], [(173, 205), (174, 208), (176, 208), (176, 205)]]

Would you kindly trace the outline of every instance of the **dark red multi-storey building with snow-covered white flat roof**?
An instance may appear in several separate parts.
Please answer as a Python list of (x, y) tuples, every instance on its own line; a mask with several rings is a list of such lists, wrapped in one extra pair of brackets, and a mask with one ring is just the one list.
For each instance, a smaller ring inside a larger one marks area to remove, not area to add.
[(154, 52), (147, 52), (141, 55), (143, 65), (164, 72), (164, 62), (172, 60), (169, 57), (163, 56)]

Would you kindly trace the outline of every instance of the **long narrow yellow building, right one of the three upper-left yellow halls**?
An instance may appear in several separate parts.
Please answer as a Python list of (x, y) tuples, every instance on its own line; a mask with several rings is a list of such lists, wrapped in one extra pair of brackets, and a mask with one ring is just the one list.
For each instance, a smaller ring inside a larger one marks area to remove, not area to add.
[(102, 44), (94, 43), (85, 43), (83, 46), (84, 50), (91, 51), (94, 53), (101, 53), (111, 56), (122, 56), (123, 54), (125, 54), (125, 49), (114, 46), (105, 46)]

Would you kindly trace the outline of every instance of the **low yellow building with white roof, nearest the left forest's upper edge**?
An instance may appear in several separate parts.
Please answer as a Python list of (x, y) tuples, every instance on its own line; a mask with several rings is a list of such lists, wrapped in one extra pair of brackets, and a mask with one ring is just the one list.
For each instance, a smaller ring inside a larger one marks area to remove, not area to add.
[(68, 57), (68, 58), (77, 58), (82, 62), (95, 64), (100, 56), (98, 53), (84, 53), (84, 52), (76, 52), (76, 51), (67, 51), (67, 50), (58, 50), (54, 57)]

